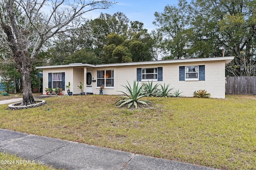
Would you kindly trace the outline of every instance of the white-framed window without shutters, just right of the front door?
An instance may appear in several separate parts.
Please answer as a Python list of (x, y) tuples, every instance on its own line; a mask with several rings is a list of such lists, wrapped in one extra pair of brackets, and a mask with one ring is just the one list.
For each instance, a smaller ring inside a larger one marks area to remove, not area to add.
[(97, 87), (114, 87), (114, 70), (97, 70)]

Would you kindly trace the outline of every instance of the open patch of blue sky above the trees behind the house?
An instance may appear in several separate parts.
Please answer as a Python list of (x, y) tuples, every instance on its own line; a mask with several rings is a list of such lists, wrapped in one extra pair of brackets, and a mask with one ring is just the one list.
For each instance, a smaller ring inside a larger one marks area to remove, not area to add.
[(94, 10), (87, 13), (88, 18), (98, 18), (100, 13), (113, 15), (116, 12), (124, 13), (130, 21), (144, 23), (144, 28), (151, 32), (156, 27), (152, 24), (155, 12), (163, 12), (166, 5), (177, 5), (178, 0), (116, 0), (118, 2), (106, 10)]

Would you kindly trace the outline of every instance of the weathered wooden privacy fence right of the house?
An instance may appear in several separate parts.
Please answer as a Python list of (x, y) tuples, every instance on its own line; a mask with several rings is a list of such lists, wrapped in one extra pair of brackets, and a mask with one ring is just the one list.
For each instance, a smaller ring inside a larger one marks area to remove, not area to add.
[(226, 94), (256, 94), (256, 76), (226, 77)]

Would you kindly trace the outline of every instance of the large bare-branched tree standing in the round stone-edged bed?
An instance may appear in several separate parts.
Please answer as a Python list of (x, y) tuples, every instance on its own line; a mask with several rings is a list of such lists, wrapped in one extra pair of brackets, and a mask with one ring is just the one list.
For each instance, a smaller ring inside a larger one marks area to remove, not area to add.
[(42, 45), (54, 35), (76, 29), (83, 14), (106, 9), (109, 0), (3, 0), (0, 2), (0, 25), (22, 76), (23, 102), (34, 104), (30, 70)]

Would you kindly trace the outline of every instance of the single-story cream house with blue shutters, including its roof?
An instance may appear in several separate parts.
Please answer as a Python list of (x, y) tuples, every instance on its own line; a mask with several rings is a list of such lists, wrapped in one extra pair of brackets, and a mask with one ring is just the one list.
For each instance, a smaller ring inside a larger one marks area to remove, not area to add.
[[(183, 96), (192, 97), (195, 90), (207, 90), (212, 98), (225, 98), (225, 66), (234, 57), (178, 59), (114, 64), (68, 64), (40, 66), (43, 69), (43, 89), (64, 87), (70, 82), (70, 91), (80, 94), (80, 82), (86, 93), (99, 94), (104, 85), (104, 94), (121, 94), (122, 85), (154, 81), (170, 84), (180, 90)], [(67, 94), (65, 89), (63, 94)], [(45, 92), (44, 92), (45, 94)]]

